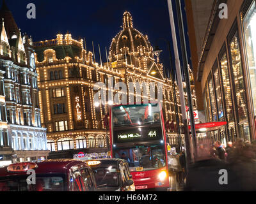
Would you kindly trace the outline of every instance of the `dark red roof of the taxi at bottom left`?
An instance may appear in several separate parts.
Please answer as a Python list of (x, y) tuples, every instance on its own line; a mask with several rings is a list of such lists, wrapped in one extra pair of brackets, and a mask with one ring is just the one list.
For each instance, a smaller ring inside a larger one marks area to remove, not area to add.
[[(83, 167), (88, 167), (83, 161), (77, 159), (46, 159), (43, 161), (35, 162), (38, 168), (35, 168), (36, 173), (67, 173), (72, 166), (81, 165)], [(8, 172), (8, 166), (0, 168), (0, 177), (10, 176), (10, 175), (24, 175), (24, 173), (19, 172)]]

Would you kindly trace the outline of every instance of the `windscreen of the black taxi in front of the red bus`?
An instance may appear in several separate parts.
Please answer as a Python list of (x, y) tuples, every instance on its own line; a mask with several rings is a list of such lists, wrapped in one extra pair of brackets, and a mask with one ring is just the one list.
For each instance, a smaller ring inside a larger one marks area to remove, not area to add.
[(111, 164), (101, 164), (99, 167), (92, 168), (98, 188), (118, 187), (120, 171)]

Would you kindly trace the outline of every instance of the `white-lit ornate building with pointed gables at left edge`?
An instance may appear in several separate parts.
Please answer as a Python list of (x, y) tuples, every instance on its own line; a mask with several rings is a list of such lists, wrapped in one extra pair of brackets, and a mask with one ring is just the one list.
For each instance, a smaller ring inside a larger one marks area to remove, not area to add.
[(0, 18), (0, 154), (6, 162), (44, 159), (49, 151), (40, 126), (32, 39), (21, 36), (4, 1)]

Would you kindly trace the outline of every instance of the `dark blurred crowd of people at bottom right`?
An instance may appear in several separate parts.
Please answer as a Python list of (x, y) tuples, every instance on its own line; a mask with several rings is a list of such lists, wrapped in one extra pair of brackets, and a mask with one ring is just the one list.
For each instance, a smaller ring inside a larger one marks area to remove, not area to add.
[[(194, 164), (186, 177), (187, 191), (256, 191), (256, 142), (237, 139), (227, 145), (220, 141), (207, 148), (200, 144)], [(222, 184), (222, 171), (227, 183)]]

